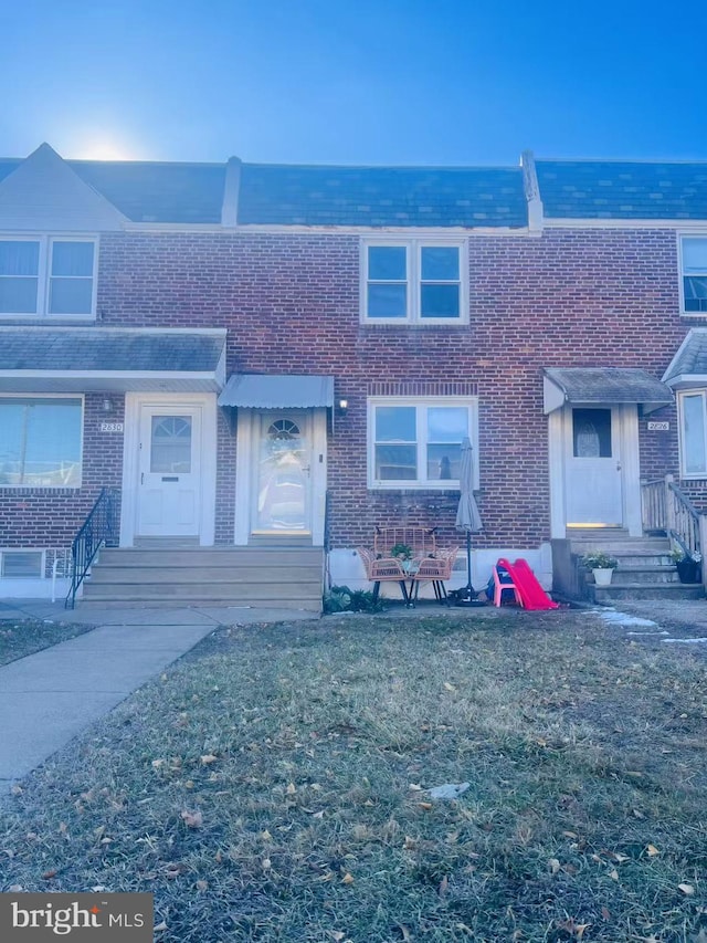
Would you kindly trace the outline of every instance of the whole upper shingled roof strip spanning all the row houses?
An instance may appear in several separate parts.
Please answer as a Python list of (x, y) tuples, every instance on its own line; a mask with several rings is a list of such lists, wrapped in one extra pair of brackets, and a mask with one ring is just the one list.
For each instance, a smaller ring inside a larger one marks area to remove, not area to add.
[[(20, 159), (0, 158), (0, 180)], [(135, 222), (219, 223), (226, 165), (68, 160)], [(707, 220), (707, 163), (537, 160), (548, 219)], [(239, 222), (525, 227), (519, 167), (243, 164)]]

